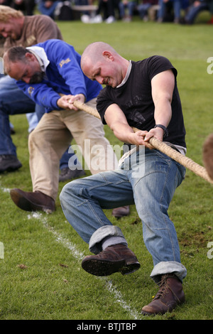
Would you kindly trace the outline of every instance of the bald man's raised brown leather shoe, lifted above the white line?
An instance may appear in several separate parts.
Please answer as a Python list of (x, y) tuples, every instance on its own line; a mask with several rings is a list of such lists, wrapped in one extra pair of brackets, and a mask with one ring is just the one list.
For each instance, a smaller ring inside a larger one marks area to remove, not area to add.
[(121, 274), (131, 274), (139, 269), (136, 255), (124, 244), (114, 244), (97, 255), (84, 257), (82, 268), (89, 274), (109, 276), (117, 271)]

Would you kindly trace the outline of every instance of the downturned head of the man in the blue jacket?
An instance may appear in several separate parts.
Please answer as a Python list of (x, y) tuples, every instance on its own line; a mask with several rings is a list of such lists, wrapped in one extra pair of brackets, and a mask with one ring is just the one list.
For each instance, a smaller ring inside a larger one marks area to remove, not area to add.
[(7, 74), (13, 77), (13, 79), (22, 80), (27, 84), (41, 82), (44, 75), (38, 61), (33, 58), (31, 60), (19, 60), (16, 63), (10, 63)]

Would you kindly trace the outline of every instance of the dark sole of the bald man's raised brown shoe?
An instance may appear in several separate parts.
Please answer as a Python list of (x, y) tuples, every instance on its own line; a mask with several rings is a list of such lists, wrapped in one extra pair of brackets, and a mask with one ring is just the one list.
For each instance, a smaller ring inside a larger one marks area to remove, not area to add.
[(109, 276), (116, 272), (126, 275), (138, 270), (139, 267), (139, 262), (128, 264), (125, 259), (114, 262), (99, 259), (83, 259), (82, 261), (82, 268), (94, 276)]

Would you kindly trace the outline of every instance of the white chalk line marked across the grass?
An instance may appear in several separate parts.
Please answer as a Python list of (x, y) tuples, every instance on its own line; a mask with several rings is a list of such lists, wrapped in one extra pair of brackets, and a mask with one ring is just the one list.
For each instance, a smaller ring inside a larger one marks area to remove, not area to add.
[[(3, 188), (1, 186), (1, 184), (0, 184), (0, 189), (3, 193), (9, 193), (10, 192), (9, 188)], [(57, 242), (60, 242), (64, 247), (66, 247), (67, 249), (70, 249), (70, 251), (72, 253), (72, 256), (75, 257), (75, 259), (77, 259), (78, 261), (81, 261), (85, 257), (83, 252), (79, 252), (77, 250), (77, 247), (76, 247), (75, 244), (70, 242), (70, 240), (65, 239), (64, 237), (62, 237), (62, 235), (60, 235), (60, 233), (56, 232), (53, 229), (53, 227), (51, 227), (48, 224), (47, 217), (44, 217), (42, 213), (32, 212), (31, 214), (28, 215), (28, 219), (30, 220), (31, 218), (35, 218), (35, 219), (40, 220), (40, 222), (43, 223), (43, 226), (48, 231), (52, 232), (52, 234), (55, 236), (55, 240)], [(134, 320), (137, 320), (138, 318), (140, 318), (140, 316), (138, 315), (138, 312), (134, 308), (131, 308), (131, 306), (129, 306), (128, 303), (126, 303), (126, 301), (124, 301), (122, 293), (116, 289), (116, 286), (113, 285), (111, 280), (109, 280), (105, 277), (98, 277), (98, 276), (97, 276), (97, 279), (101, 279), (102, 281), (105, 282), (105, 286), (107, 287), (107, 290), (114, 296), (116, 302), (119, 303), (119, 305), (122, 308), (124, 308), (125, 311), (128, 311), (130, 316)]]

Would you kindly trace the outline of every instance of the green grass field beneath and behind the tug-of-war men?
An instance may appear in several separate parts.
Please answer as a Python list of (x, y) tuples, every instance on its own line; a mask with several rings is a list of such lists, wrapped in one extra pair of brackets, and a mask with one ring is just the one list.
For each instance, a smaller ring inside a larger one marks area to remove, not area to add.
[[(213, 56), (213, 33), (212, 26), (204, 22), (207, 17), (207, 13), (200, 16), (194, 26), (138, 20), (111, 25), (80, 21), (58, 24), (65, 41), (80, 53), (93, 41), (105, 41), (131, 60), (156, 54), (169, 58), (178, 69), (187, 156), (202, 165), (202, 144), (213, 131), (213, 75), (207, 73), (207, 59)], [(59, 200), (57, 210), (46, 215), (23, 212), (10, 199), (11, 188), (31, 191), (26, 116), (13, 116), (11, 122), (23, 167), (0, 175), (0, 242), (4, 244), (4, 252), (0, 249), (1, 320), (212, 320), (212, 185), (187, 171), (170, 205), (182, 264), (187, 268), (185, 304), (164, 316), (142, 316), (141, 308), (158, 288), (149, 277), (153, 263), (143, 244), (141, 220), (134, 205), (129, 217), (116, 220), (111, 210), (106, 215), (121, 227), (141, 269), (107, 278), (87, 274), (81, 259), (89, 254), (88, 246), (65, 220)], [(112, 145), (119, 144), (107, 126), (105, 131)], [(59, 193), (64, 184), (60, 183)]]

